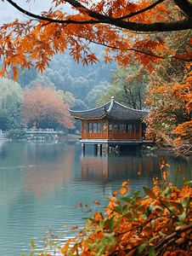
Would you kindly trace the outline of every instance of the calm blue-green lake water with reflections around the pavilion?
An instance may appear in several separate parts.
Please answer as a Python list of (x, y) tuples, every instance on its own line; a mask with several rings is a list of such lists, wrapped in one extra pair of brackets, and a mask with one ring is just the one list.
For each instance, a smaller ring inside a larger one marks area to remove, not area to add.
[(192, 179), (191, 162), (168, 155), (129, 152), (96, 157), (90, 145), (82, 157), (78, 143), (0, 141), (0, 255), (29, 255), (31, 237), (42, 248), (49, 226), (58, 235), (73, 225), (82, 226), (88, 215), (73, 207), (79, 202), (93, 207), (93, 199), (106, 205), (105, 198), (121, 189), (127, 178), (130, 194), (140, 189), (144, 195), (142, 187), (152, 188), (154, 175), (161, 180), (161, 157), (171, 166), (167, 170), (178, 186), (183, 177)]

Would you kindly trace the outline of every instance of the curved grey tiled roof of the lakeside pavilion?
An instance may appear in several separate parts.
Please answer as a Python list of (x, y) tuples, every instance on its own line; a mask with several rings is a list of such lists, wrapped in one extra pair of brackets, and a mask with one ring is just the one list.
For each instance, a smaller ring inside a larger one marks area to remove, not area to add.
[(71, 116), (76, 119), (103, 119), (108, 117), (110, 119), (130, 120), (141, 119), (144, 115), (148, 114), (147, 110), (137, 110), (133, 108), (127, 108), (114, 99), (107, 102), (99, 108), (93, 108), (84, 111), (72, 111), (68, 109)]

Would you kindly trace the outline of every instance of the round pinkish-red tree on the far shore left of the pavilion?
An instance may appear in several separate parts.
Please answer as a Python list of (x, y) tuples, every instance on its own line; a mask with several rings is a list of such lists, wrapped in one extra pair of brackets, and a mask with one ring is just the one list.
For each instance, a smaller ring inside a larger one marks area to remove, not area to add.
[(37, 85), (35, 88), (25, 89), (21, 114), (26, 123), (36, 122), (37, 128), (54, 128), (58, 125), (73, 128), (66, 108), (70, 108), (70, 105), (65, 104), (53, 88)]

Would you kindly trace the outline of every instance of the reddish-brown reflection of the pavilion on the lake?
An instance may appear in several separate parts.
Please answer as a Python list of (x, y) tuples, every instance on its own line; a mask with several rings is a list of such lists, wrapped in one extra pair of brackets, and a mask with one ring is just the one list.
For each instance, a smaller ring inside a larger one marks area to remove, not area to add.
[(98, 156), (81, 157), (81, 180), (108, 180), (121, 177), (143, 176), (159, 169), (159, 162), (155, 163), (153, 157), (114, 157)]

